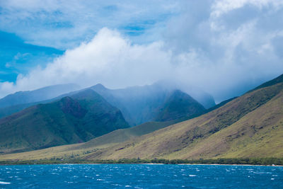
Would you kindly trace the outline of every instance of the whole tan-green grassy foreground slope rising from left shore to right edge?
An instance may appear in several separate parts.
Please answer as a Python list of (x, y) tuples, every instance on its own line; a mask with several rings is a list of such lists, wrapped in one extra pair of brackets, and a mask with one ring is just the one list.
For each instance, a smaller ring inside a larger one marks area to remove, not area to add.
[(89, 142), (4, 155), (0, 159), (42, 159), (46, 154), (83, 159), (282, 157), (282, 89), (280, 83), (251, 91), (198, 118), (125, 142)]

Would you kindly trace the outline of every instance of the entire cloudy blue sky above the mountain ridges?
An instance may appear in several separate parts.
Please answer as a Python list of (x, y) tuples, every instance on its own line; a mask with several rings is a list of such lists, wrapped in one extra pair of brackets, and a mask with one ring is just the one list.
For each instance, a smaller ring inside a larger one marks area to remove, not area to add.
[(158, 80), (216, 102), (283, 74), (282, 0), (0, 1), (0, 97)]

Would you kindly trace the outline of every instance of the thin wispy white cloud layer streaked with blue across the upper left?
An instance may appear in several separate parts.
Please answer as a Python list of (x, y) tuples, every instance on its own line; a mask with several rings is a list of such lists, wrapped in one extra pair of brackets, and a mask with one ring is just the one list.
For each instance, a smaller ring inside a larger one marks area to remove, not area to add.
[[(173, 0), (9, 0), (0, 1), (0, 30), (16, 33), (26, 42), (66, 50), (91, 40), (103, 27), (134, 33), (132, 40), (156, 40), (152, 28), (163, 27), (171, 14), (178, 13)], [(145, 37), (135, 38), (138, 35)], [(149, 33), (148, 33), (149, 32)]]

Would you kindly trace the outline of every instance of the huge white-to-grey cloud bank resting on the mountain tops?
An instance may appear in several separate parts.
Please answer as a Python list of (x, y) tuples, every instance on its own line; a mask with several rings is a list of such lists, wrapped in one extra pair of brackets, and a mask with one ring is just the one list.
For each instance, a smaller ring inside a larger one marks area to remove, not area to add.
[(100, 29), (46, 67), (18, 76), (15, 84), (1, 83), (0, 95), (51, 84), (120, 88), (171, 79), (183, 88), (198, 86), (219, 102), (282, 74), (280, 1), (180, 5), (171, 4), (180, 12), (168, 19), (165, 29), (152, 28), (159, 40), (137, 44), (120, 30)]

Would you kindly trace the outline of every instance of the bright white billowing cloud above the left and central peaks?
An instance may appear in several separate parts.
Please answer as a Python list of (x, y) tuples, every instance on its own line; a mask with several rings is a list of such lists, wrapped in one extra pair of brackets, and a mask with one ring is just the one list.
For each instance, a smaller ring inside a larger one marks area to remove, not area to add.
[(67, 52), (26, 76), (18, 76), (16, 84), (5, 83), (1, 92), (39, 88), (42, 85), (77, 83), (90, 86), (103, 83), (125, 87), (151, 83), (171, 73), (171, 53), (161, 50), (162, 42), (132, 45), (117, 31), (101, 29), (88, 43)]

